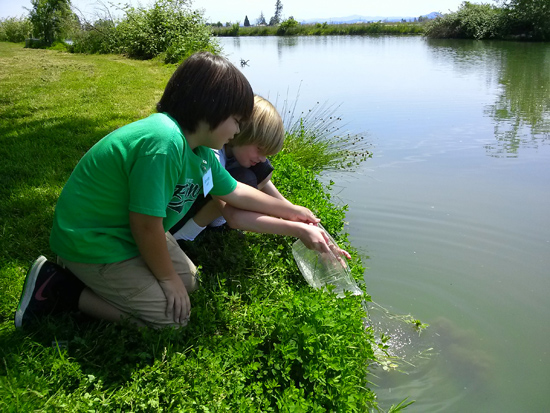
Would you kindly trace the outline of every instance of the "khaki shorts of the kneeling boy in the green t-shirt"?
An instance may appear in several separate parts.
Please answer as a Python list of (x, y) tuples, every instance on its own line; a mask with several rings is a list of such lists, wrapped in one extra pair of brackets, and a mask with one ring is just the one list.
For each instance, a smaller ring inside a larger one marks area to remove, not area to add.
[[(168, 232), (166, 244), (174, 269), (187, 292), (195, 291), (198, 288), (197, 268)], [(166, 296), (141, 256), (112, 264), (83, 264), (62, 257), (58, 257), (58, 262), (114, 307), (151, 327), (181, 327), (166, 315)]]

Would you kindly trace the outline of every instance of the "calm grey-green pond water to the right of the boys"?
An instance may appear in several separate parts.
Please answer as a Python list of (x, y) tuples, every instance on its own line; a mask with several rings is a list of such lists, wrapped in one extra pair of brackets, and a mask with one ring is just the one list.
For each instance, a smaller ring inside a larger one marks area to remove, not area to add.
[[(336, 105), (373, 158), (332, 173), (398, 369), (387, 409), (542, 412), (550, 389), (550, 44), (223, 38), (256, 93)], [(367, 258), (368, 257), (368, 258)], [(420, 336), (399, 315), (430, 326)]]

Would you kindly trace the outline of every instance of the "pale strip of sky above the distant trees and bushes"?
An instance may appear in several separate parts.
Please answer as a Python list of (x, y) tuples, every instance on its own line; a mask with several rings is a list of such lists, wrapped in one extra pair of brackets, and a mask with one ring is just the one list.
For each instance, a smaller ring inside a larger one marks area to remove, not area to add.
[[(145, 7), (154, 3), (154, 0), (119, 0), (120, 3), (131, 3), (134, 6)], [(116, 1), (118, 3), (119, 1)], [(416, 17), (433, 11), (446, 13), (456, 11), (463, 0), (281, 0), (283, 16), (293, 16), (296, 20), (313, 18), (345, 17), (353, 14), (364, 16), (411, 16)], [(490, 1), (490, 0), (489, 0)], [(476, 1), (474, 0), (474, 3)], [(481, 1), (480, 1), (481, 2)], [(88, 20), (101, 11), (101, 5), (107, 1), (99, 0), (72, 0)], [(31, 8), (30, 0), (1, 0), (0, 18), (20, 17), (26, 15), (24, 9)], [(195, 0), (194, 9), (203, 9), (205, 17), (212, 22), (241, 22), (248, 16), (251, 23), (263, 12), (267, 20), (275, 10), (275, 0)]]

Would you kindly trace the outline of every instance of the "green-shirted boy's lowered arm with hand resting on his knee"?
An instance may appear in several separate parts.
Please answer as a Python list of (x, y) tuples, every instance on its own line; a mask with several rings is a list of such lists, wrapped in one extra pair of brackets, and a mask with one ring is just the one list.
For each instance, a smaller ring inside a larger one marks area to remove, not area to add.
[(130, 229), (141, 256), (166, 295), (167, 315), (172, 315), (178, 324), (185, 323), (191, 303), (185, 285), (172, 265), (162, 218), (130, 211)]

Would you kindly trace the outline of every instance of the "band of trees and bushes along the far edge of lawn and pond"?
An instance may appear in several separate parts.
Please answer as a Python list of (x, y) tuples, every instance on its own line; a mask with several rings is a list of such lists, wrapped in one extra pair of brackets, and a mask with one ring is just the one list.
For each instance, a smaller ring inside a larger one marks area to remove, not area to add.
[[(94, 22), (79, 17), (70, 0), (31, 0), (26, 17), (0, 19), (0, 41), (23, 42), (29, 47), (60, 44), (72, 52), (117, 53), (139, 59), (160, 56), (176, 63), (199, 51), (216, 52), (217, 36), (240, 35), (350, 35), (424, 34), (433, 38), (550, 40), (550, 0), (499, 0), (499, 5), (462, 3), (456, 12), (428, 22), (357, 25), (302, 25), (293, 17), (283, 20), (283, 4), (266, 21), (264, 13), (252, 26), (245, 16), (239, 23), (209, 24), (202, 12), (191, 8), (190, 0), (156, 0), (149, 9), (122, 6), (123, 15), (110, 11)], [(214, 27), (211, 27), (214, 26)], [(214, 31), (213, 31), (214, 29)], [(69, 42), (66, 40), (69, 39)]]

